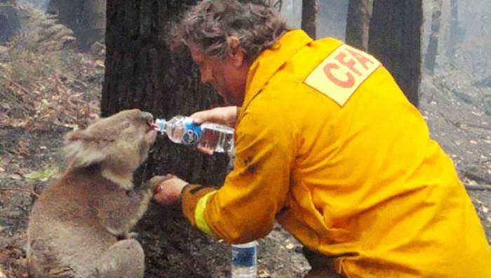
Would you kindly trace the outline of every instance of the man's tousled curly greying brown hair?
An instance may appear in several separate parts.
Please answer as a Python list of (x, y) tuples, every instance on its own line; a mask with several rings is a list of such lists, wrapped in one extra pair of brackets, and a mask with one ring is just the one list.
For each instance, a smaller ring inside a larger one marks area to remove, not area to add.
[(192, 6), (170, 29), (171, 49), (199, 46), (208, 56), (233, 53), (235, 36), (252, 62), (289, 30), (268, 0), (203, 0)]

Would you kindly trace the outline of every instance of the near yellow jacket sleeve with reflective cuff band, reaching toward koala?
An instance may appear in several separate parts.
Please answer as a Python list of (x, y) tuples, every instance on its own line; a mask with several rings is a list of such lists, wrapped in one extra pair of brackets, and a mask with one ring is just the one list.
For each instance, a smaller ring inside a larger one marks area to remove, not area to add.
[[(288, 117), (268, 106), (251, 104), (243, 111), (236, 125), (234, 170), (224, 186), (195, 194), (191, 187), (184, 190), (184, 214), (191, 224), (227, 242), (264, 237), (285, 205), (294, 162), (294, 132)], [(201, 227), (200, 221), (204, 222)]]

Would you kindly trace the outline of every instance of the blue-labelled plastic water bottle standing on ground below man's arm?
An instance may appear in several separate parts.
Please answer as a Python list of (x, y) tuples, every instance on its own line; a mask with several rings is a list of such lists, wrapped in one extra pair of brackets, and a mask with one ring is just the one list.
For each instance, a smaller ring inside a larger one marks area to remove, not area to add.
[(257, 277), (257, 241), (232, 244), (232, 278)]

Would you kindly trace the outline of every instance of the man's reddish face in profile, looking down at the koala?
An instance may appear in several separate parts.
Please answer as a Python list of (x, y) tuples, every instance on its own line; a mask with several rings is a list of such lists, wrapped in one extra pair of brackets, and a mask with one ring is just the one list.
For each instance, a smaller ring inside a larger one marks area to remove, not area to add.
[(191, 57), (198, 65), (201, 83), (210, 84), (229, 105), (241, 106), (244, 100), (248, 65), (234, 55), (225, 58), (207, 56), (198, 46), (189, 46)]

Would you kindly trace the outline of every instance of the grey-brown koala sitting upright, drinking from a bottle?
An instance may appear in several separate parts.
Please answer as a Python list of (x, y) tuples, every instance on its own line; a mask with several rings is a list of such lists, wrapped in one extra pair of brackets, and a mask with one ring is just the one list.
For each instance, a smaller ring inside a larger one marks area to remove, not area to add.
[(67, 134), (67, 170), (43, 191), (29, 217), (32, 277), (143, 277), (143, 249), (130, 228), (166, 179), (154, 176), (133, 188), (133, 172), (156, 139), (152, 123), (151, 113), (133, 109)]

